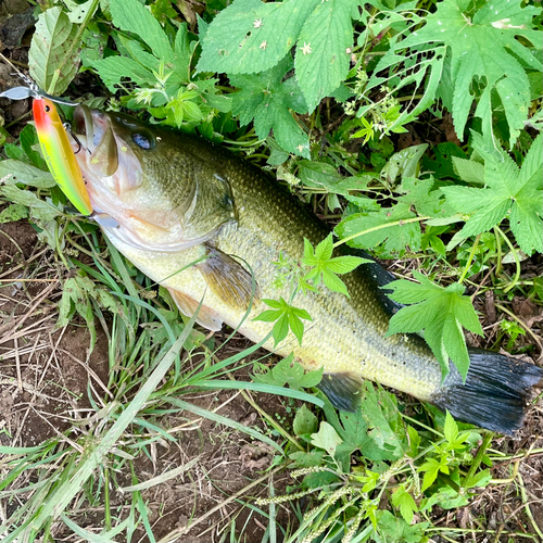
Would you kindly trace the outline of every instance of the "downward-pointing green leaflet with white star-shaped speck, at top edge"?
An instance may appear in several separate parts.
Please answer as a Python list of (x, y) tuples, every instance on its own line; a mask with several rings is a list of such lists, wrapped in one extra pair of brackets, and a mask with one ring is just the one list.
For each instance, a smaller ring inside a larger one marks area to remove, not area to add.
[(305, 22), (296, 46), (295, 70), (310, 113), (346, 78), (353, 48), (352, 18), (359, 0), (320, 2)]

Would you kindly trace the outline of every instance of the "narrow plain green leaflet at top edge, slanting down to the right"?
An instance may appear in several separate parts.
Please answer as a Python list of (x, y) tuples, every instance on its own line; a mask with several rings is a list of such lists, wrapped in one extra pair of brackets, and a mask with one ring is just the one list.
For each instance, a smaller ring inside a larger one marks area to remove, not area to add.
[(115, 26), (141, 38), (157, 59), (166, 62), (174, 60), (174, 51), (166, 33), (138, 0), (110, 0), (110, 9)]

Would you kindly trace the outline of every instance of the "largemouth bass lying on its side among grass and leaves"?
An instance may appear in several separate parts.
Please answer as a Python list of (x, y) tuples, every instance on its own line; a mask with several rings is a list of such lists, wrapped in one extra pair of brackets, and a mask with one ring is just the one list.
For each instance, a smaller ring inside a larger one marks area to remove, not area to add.
[[(165, 287), (180, 312), (209, 330), (224, 324), (253, 342), (273, 324), (255, 320), (263, 300), (288, 300), (275, 282), (280, 257), (300, 262), (304, 238), (329, 236), (320, 222), (276, 180), (220, 146), (85, 105), (74, 112), (74, 152), (104, 235), (136, 267)], [(337, 248), (334, 255), (348, 254)], [(342, 276), (350, 296), (326, 287), (296, 295), (312, 317), (302, 344), (292, 333), (277, 346), (307, 370), (324, 368), (319, 388), (338, 408), (359, 405), (363, 379), (406, 392), (455, 418), (512, 434), (521, 427), (543, 370), (494, 352), (470, 350), (464, 382), (442, 370), (417, 334), (386, 337), (397, 308), (383, 294), (391, 275), (377, 263)], [(244, 318), (247, 317), (247, 318)]]

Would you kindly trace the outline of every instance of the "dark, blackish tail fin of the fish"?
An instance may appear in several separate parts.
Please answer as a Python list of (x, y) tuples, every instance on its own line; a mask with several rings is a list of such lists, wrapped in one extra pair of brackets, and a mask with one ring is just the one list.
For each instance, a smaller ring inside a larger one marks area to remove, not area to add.
[(513, 434), (522, 426), (531, 389), (543, 386), (543, 369), (479, 349), (470, 349), (469, 358), (466, 383), (451, 365), (451, 372), (430, 402), (465, 422)]

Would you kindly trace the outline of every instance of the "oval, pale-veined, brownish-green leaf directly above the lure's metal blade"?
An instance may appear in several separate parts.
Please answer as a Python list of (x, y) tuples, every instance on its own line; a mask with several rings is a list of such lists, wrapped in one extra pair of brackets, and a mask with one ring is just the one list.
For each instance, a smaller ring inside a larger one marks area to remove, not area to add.
[[(59, 7), (50, 8), (38, 17), (28, 51), (28, 65), (30, 77), (50, 94), (62, 94), (77, 73), (77, 47), (67, 55), (76, 35), (77, 26)], [(61, 63), (62, 71), (55, 75)]]

